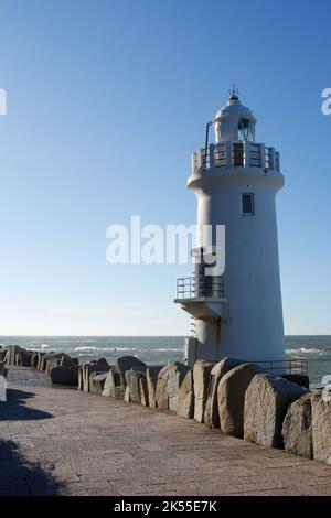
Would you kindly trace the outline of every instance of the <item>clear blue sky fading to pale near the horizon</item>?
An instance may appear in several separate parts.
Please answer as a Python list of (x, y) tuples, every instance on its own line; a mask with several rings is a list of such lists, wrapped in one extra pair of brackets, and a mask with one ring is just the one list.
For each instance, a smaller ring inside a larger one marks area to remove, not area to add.
[(0, 334), (185, 335), (190, 266), (110, 266), (106, 229), (191, 224), (190, 154), (235, 82), (281, 152), (287, 334), (331, 334), (330, 1), (1, 0)]

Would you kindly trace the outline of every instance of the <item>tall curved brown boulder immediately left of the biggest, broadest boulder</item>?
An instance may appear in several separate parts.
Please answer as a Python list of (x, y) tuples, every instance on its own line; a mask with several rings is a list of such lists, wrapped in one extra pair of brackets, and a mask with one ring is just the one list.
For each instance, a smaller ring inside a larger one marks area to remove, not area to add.
[(254, 376), (260, 371), (261, 369), (255, 364), (243, 364), (222, 377), (217, 399), (223, 433), (243, 439), (245, 393)]

